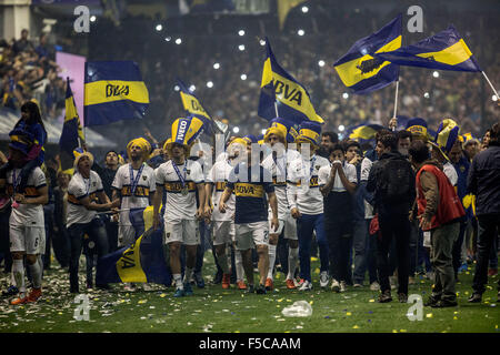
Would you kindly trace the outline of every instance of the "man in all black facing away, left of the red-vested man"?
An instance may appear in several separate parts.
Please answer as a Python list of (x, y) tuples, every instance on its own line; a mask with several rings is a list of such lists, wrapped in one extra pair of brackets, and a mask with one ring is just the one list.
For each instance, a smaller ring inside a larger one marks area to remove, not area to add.
[(398, 298), (408, 301), (408, 272), (410, 254), (409, 211), (414, 201), (414, 174), (408, 160), (398, 152), (398, 138), (388, 132), (377, 138), (379, 161), (368, 176), (367, 191), (374, 192), (380, 237), (377, 240), (377, 266), (381, 295), (380, 303), (391, 302), (388, 254), (396, 240), (398, 260)]

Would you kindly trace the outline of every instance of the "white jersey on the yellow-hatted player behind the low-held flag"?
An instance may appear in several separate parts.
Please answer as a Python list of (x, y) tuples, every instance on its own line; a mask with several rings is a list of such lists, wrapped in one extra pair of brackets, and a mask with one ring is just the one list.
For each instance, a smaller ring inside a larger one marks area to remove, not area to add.
[[(140, 169), (133, 169), (133, 181), (137, 179), (137, 187), (132, 194), (132, 179), (130, 176), (130, 163), (121, 165), (114, 175), (111, 187), (121, 194), (120, 225), (132, 225), (130, 222), (130, 209), (144, 209), (150, 205), (149, 196), (157, 191), (154, 170), (148, 164), (142, 164)], [(140, 176), (138, 178), (140, 172)]]

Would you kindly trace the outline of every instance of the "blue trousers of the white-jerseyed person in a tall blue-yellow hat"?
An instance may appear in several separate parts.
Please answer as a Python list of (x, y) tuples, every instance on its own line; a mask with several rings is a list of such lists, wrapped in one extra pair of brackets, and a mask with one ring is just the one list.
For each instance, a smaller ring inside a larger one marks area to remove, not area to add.
[(324, 235), (323, 214), (302, 214), (297, 220), (299, 237), (300, 277), (311, 282), (311, 241), (312, 231), (320, 250), (321, 271), (328, 271), (328, 242)]

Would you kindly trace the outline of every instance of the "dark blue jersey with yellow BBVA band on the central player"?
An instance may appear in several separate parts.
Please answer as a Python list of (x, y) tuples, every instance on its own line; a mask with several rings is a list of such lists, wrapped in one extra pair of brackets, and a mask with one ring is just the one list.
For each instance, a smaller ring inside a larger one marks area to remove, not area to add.
[[(247, 171), (242, 171), (243, 169)], [(259, 166), (258, 174), (254, 176), (251, 173), (250, 166), (239, 164), (230, 172), (226, 184), (234, 191), (236, 224), (268, 221), (266, 193), (274, 192), (274, 185), (272, 181), (266, 182), (264, 176), (271, 176), (271, 173), (262, 166)]]

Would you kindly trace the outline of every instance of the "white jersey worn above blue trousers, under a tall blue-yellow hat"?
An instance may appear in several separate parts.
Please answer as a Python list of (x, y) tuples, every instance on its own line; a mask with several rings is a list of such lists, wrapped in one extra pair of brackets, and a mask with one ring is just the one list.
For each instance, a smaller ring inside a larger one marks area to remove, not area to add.
[(316, 154), (309, 160), (304, 161), (300, 156), (290, 163), (287, 173), (287, 197), (290, 210), (297, 207), (303, 214), (323, 213), (323, 195), (319, 191), (318, 172), (329, 164), (328, 159)]

